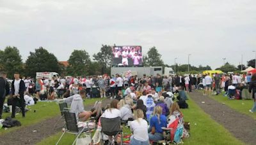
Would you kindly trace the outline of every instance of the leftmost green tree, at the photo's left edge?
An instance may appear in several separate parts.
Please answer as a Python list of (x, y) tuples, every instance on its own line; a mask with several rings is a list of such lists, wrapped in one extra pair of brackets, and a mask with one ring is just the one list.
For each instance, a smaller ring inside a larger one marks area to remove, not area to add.
[(13, 78), (14, 72), (23, 74), (24, 66), (20, 52), (15, 46), (6, 46), (0, 51), (0, 68), (7, 72), (9, 78)]

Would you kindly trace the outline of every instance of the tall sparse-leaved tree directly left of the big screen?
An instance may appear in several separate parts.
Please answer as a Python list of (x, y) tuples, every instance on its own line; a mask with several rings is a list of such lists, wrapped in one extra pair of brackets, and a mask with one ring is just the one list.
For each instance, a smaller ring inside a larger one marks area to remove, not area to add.
[(111, 62), (113, 60), (111, 46), (102, 45), (100, 52), (93, 54), (93, 60), (99, 62), (100, 66), (102, 67), (101, 74), (110, 74)]

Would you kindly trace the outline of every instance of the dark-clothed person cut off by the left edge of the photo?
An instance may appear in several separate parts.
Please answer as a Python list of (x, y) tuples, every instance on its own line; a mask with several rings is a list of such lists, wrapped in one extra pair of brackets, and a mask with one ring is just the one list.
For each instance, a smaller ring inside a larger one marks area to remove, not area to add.
[(10, 93), (9, 83), (6, 81), (6, 72), (0, 72), (0, 119), (2, 119), (5, 96)]

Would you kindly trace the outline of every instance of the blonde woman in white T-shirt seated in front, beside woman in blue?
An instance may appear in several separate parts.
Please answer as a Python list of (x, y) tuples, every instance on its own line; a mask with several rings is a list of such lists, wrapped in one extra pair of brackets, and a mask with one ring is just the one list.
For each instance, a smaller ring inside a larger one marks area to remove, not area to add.
[(144, 114), (141, 109), (136, 109), (134, 111), (134, 121), (131, 122), (130, 128), (132, 132), (131, 136), (131, 145), (148, 145), (148, 123), (146, 120), (143, 120)]

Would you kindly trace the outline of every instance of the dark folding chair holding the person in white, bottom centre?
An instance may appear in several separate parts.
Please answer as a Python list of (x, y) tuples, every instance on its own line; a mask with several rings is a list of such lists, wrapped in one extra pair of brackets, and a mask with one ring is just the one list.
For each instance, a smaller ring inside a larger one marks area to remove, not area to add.
[[(101, 123), (101, 132), (102, 132), (102, 139), (103, 135), (109, 135), (114, 136), (113, 140), (115, 140), (115, 137), (117, 137), (118, 134), (121, 134), (121, 145), (123, 144), (123, 131), (121, 128), (121, 118), (100, 118)], [(111, 142), (111, 144), (114, 144), (114, 141)]]

